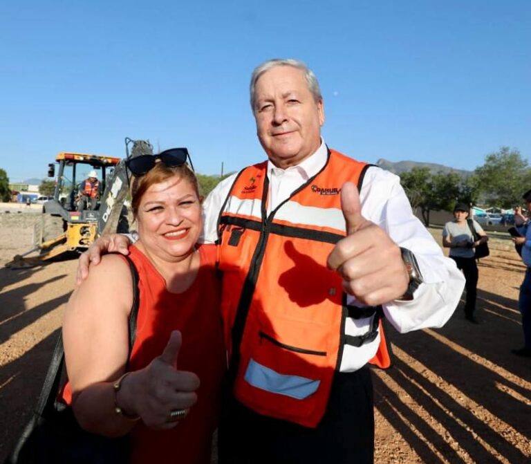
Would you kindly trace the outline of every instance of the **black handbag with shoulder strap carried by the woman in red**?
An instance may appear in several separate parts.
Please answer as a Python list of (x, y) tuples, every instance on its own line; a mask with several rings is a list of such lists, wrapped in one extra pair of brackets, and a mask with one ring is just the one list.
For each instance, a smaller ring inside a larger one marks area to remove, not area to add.
[[(138, 272), (124, 256), (133, 278), (133, 306), (129, 315), (129, 356), (136, 337)], [(129, 357), (128, 357), (129, 359)], [(77, 423), (72, 407), (58, 401), (66, 369), (59, 333), (50, 366), (33, 414), (4, 464), (116, 464), (129, 463), (129, 436), (108, 438), (91, 434)]]

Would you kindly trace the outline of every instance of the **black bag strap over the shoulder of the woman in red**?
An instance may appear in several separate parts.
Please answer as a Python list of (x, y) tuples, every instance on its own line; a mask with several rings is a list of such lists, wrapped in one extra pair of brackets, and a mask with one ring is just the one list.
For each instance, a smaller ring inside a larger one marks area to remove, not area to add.
[[(138, 271), (136, 270), (133, 261), (131, 261), (131, 258), (122, 254), (120, 254), (120, 256), (127, 260), (129, 269), (131, 270), (131, 278), (133, 279), (133, 305), (131, 306), (131, 313), (129, 315), (129, 356), (127, 357), (127, 362), (129, 363), (131, 350), (133, 349), (133, 344), (135, 343), (136, 339), (136, 319), (138, 316), (138, 307), (140, 306), (140, 292), (138, 290), (139, 277)], [(63, 337), (61, 331), (59, 331), (59, 337), (57, 337), (57, 343), (55, 344), (52, 360), (48, 366), (48, 372), (46, 373), (41, 394), (39, 396), (39, 400), (37, 401), (37, 407), (35, 408), (35, 412), (39, 414), (39, 416), (42, 416), (45, 410), (54, 407), (57, 392), (59, 391), (59, 382), (61, 382), (64, 368)]]

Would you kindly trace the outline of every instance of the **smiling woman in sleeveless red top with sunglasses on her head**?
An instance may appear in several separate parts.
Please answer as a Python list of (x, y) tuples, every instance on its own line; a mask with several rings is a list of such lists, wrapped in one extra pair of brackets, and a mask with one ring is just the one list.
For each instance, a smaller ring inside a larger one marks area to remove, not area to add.
[(130, 256), (140, 277), (131, 357), (131, 272), (111, 254), (68, 302), (66, 366), (80, 425), (130, 433), (131, 462), (206, 464), (224, 366), (215, 248), (196, 245), (201, 202), (186, 156), (165, 153), (129, 165), (138, 174), (131, 196), (139, 239)]

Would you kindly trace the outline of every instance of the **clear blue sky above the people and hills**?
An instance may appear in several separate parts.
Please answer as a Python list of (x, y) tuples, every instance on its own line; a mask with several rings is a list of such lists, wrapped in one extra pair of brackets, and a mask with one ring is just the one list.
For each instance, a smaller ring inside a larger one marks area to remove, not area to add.
[(330, 147), (375, 163), (531, 156), (530, 1), (3, 1), (0, 167), (44, 178), (59, 151), (186, 146), (202, 174), (264, 158), (254, 66), (315, 71)]

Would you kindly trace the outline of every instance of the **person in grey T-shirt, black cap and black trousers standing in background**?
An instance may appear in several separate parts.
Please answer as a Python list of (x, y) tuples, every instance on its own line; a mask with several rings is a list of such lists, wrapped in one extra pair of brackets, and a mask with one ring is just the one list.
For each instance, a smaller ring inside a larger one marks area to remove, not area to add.
[(450, 248), (450, 258), (456, 261), (458, 269), (465, 275), (467, 289), (465, 317), (469, 322), (478, 324), (474, 316), (478, 286), (478, 266), (474, 257), (474, 248), (480, 243), (487, 242), (489, 238), (481, 225), (472, 219), (472, 227), (481, 236), (481, 239), (474, 241), (474, 235), (467, 222), (469, 214), (470, 208), (466, 203), (456, 204), (454, 221), (447, 222), (443, 228), (443, 246)]

